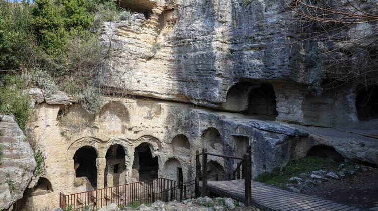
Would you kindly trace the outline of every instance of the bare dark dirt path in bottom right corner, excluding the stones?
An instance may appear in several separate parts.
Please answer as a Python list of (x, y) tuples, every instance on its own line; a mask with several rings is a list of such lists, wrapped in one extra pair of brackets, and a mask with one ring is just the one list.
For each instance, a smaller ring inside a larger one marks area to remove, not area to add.
[(378, 169), (358, 173), (342, 180), (328, 180), (303, 193), (369, 209), (378, 206)]

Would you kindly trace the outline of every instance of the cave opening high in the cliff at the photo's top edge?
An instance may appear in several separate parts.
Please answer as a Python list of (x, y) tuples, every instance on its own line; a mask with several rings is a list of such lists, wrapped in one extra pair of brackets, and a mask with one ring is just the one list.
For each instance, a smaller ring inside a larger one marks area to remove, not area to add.
[(116, 4), (131, 13), (141, 13), (146, 19), (153, 14), (152, 8), (155, 4), (149, 0), (118, 0)]

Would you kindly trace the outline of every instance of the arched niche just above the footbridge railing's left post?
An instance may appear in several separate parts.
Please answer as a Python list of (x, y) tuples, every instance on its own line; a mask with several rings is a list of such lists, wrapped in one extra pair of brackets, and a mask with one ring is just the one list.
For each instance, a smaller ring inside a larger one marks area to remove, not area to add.
[[(208, 152), (223, 154), (223, 140), (216, 128), (208, 128), (202, 133), (203, 147)], [(211, 156), (209, 156), (211, 158)]]

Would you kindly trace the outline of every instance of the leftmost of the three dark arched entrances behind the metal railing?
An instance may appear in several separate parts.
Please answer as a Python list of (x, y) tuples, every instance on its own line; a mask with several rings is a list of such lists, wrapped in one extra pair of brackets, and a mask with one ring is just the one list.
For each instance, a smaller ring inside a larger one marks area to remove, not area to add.
[(76, 177), (87, 177), (92, 187), (95, 189), (97, 185), (96, 158), (96, 150), (89, 146), (81, 147), (74, 155), (75, 165), (79, 165), (76, 169)]

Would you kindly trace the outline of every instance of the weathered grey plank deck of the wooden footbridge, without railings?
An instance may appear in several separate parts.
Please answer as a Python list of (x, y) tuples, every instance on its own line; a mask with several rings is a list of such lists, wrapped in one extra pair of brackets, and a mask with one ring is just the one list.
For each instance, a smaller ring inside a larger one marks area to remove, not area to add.
[[(200, 186), (202, 186), (200, 182)], [(231, 181), (208, 181), (207, 189), (221, 196), (245, 201), (244, 179)], [(252, 204), (274, 211), (359, 211), (352, 206), (330, 200), (294, 193), (264, 183), (252, 181)]]

